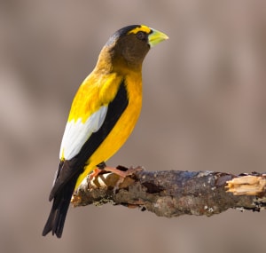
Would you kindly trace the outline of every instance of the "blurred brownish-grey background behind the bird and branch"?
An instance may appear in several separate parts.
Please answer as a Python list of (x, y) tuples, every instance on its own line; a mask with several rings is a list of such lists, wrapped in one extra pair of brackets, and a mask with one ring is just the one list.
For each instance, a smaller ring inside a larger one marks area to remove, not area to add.
[(87, 206), (70, 208), (62, 239), (41, 235), (74, 93), (108, 37), (130, 24), (170, 39), (145, 59), (142, 115), (108, 164), (265, 171), (265, 5), (1, 1), (1, 252), (265, 252), (265, 212), (168, 219)]

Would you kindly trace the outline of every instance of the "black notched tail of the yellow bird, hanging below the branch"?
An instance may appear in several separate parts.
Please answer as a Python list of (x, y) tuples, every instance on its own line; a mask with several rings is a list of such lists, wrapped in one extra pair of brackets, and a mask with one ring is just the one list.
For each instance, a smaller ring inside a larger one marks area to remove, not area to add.
[(66, 220), (66, 213), (74, 192), (76, 177), (71, 179), (54, 195), (51, 212), (43, 228), (43, 236), (47, 233), (56, 234), (58, 238), (62, 236)]

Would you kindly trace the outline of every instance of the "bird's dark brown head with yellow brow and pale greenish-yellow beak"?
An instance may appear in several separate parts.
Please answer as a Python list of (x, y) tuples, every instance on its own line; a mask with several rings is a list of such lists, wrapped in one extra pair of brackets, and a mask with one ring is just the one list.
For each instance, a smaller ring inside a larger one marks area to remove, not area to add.
[[(154, 45), (168, 36), (144, 25), (121, 28), (109, 38), (100, 54), (110, 61), (114, 70), (118, 68), (140, 69), (145, 55)], [(101, 65), (104, 63), (101, 61)]]

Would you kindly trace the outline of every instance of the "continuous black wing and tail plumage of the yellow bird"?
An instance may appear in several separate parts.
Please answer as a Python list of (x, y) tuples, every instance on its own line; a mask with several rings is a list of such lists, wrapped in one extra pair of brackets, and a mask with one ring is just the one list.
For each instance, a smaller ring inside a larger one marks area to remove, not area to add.
[(50, 201), (53, 199), (51, 213), (43, 228), (43, 235), (52, 232), (57, 237), (61, 237), (77, 178), (82, 173), (85, 163), (90, 159), (90, 155), (101, 145), (128, 105), (128, 92), (125, 83), (122, 82), (115, 98), (108, 105), (106, 119), (100, 129), (90, 136), (82, 146), (80, 153), (73, 159), (60, 162), (58, 175), (49, 198)]

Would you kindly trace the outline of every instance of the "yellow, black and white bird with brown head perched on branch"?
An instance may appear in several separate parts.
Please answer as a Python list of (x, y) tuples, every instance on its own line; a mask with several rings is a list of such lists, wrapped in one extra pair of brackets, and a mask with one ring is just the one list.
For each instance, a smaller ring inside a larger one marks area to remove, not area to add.
[(129, 138), (142, 107), (142, 65), (147, 52), (168, 36), (145, 25), (117, 30), (74, 96), (59, 152), (43, 236), (62, 236), (72, 194), (91, 172), (108, 170), (106, 161)]

